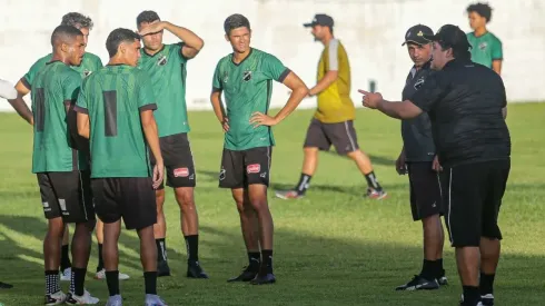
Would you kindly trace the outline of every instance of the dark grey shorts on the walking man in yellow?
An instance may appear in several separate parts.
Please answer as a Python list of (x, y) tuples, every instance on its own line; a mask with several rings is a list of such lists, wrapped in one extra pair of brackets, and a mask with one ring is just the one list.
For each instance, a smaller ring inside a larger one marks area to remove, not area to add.
[(354, 121), (324, 124), (316, 118), (310, 120), (304, 148), (318, 148), (328, 151), (331, 145), (337, 154), (347, 155), (359, 149)]

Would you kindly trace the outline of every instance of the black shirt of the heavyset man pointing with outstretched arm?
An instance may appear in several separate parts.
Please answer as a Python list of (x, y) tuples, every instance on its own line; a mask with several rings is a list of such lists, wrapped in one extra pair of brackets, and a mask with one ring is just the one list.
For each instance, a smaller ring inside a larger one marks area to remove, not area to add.
[(509, 130), (502, 116), (507, 98), (492, 69), (452, 60), (429, 76), (410, 101), (428, 112), (443, 166), (509, 158)]

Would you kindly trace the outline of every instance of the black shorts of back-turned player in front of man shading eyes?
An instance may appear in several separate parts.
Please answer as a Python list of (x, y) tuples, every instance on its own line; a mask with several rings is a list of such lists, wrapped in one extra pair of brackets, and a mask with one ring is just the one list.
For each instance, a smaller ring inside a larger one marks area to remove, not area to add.
[(121, 217), (127, 229), (141, 229), (157, 221), (157, 204), (151, 178), (121, 177), (91, 180), (97, 216), (105, 224)]

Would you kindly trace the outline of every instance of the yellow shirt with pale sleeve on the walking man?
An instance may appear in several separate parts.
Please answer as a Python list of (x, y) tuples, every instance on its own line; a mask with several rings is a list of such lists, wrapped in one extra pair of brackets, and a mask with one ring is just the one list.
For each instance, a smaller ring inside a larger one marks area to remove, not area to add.
[(318, 93), (318, 109), (314, 117), (325, 124), (354, 120), (356, 109), (350, 99), (350, 65), (345, 47), (337, 39), (331, 39), (321, 52), (317, 80), (324, 78), (329, 70), (336, 70), (338, 77), (326, 90)]

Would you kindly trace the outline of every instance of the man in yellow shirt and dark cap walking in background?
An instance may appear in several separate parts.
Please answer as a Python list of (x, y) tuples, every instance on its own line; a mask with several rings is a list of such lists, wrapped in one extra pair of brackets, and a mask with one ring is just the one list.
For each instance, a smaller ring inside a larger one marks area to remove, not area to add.
[(334, 20), (319, 13), (304, 26), (311, 28), (315, 40), (325, 46), (318, 65), (318, 83), (309, 91), (310, 97), (317, 96), (318, 109), (307, 130), (299, 182), (293, 190), (279, 190), (276, 196), (283, 199), (303, 197), (316, 171), (318, 151), (329, 150), (333, 145), (337, 154), (356, 162), (367, 180), (367, 196), (383, 199), (387, 194), (377, 181), (369, 157), (358, 147), (354, 129), (356, 111), (350, 99), (350, 65), (345, 48), (333, 34)]

